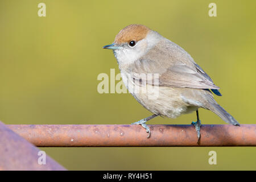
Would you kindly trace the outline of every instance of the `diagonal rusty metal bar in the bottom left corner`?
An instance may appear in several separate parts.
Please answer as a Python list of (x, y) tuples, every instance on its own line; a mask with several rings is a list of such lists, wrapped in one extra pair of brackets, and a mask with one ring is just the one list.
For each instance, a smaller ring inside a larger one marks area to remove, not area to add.
[(0, 170), (66, 170), (47, 155), (39, 163), (39, 151), (0, 122)]

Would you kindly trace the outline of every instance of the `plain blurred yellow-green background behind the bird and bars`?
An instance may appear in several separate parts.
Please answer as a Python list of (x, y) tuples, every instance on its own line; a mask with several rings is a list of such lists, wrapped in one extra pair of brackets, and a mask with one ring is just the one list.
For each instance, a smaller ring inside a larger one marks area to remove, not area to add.
[[(46, 17), (38, 4), (46, 3)], [(217, 4), (217, 17), (208, 5)], [(255, 124), (255, 1), (3, 1), (0, 2), (0, 120), (6, 124), (129, 124), (149, 116), (130, 94), (99, 94), (99, 73), (119, 73), (102, 49), (131, 23), (179, 44), (241, 124)], [(225, 124), (200, 109), (203, 124)], [(149, 124), (189, 124), (196, 114)], [(42, 148), (68, 169), (256, 169), (255, 147)], [(209, 165), (208, 152), (217, 152)]]

